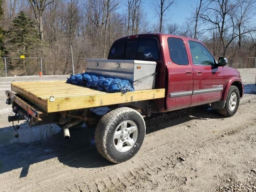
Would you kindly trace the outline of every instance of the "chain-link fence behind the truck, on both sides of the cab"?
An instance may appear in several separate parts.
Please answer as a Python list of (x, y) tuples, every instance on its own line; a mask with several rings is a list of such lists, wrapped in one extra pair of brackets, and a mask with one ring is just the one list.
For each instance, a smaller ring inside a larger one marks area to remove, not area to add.
[[(0, 58), (0, 76), (66, 75), (86, 70), (88, 58), (106, 58), (103, 48), (95, 46), (32, 46), (25, 58), (15, 53), (14, 57)], [(107, 48), (108, 50), (109, 48)], [(221, 50), (212, 50), (215, 58), (222, 56)], [(27, 57), (28, 55), (28, 57)], [(226, 51), (228, 66), (234, 68), (256, 68), (256, 50), (243, 49)]]

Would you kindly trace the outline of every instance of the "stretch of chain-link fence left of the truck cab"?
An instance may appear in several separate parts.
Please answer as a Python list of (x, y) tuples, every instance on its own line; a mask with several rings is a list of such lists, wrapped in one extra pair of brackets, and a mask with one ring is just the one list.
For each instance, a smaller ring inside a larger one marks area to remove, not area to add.
[[(32, 76), (39, 75), (39, 72), (42, 75), (82, 73), (86, 69), (86, 59), (104, 58), (103, 48), (88, 46), (86, 43), (81, 46), (29, 46), (26, 50), (27, 53), (24, 53), (15, 45), (8, 45), (10, 56), (0, 58), (1, 77)], [(25, 58), (20, 58), (20, 55)]]

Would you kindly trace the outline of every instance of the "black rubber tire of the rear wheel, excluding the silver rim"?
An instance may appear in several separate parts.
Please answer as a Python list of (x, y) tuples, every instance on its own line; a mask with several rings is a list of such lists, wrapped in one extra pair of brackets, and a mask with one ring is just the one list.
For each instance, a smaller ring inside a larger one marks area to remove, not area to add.
[[(131, 120), (138, 127), (138, 136), (134, 146), (126, 151), (119, 152), (114, 147), (113, 136), (118, 124)], [(146, 134), (146, 126), (143, 117), (132, 108), (121, 107), (106, 113), (95, 130), (95, 143), (98, 152), (113, 163), (121, 163), (129, 160), (140, 150)]]

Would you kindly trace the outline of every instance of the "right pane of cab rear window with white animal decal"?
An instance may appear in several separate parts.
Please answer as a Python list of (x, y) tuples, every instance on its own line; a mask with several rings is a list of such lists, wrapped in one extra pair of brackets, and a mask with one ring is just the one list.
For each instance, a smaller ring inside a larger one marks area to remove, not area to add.
[(158, 44), (156, 39), (140, 39), (137, 52), (138, 60), (159, 60)]

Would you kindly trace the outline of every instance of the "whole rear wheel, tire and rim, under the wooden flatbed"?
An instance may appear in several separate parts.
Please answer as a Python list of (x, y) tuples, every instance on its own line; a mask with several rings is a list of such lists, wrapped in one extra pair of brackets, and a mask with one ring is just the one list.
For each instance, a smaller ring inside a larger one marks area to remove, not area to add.
[(139, 112), (117, 108), (100, 119), (95, 130), (96, 148), (110, 162), (121, 163), (139, 151), (145, 134), (145, 122)]

